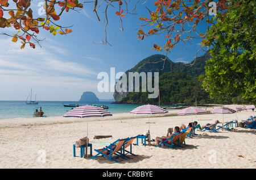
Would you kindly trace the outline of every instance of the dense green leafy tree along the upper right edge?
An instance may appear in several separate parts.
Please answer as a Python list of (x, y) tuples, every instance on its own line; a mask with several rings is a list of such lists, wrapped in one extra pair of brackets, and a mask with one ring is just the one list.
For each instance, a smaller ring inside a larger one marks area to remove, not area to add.
[(208, 31), (212, 58), (201, 80), (212, 98), (241, 94), (246, 102), (256, 103), (256, 2), (231, 3), (226, 18)]

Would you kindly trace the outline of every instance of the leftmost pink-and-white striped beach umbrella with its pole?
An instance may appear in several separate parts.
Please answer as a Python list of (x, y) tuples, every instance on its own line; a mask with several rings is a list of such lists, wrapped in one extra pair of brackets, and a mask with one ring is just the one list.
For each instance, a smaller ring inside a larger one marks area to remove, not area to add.
[[(80, 106), (73, 108), (71, 111), (67, 112), (64, 118), (86, 118), (87, 119), (87, 139), (88, 139), (88, 118), (90, 117), (104, 117), (112, 116), (112, 114), (102, 107), (98, 106)], [(86, 157), (87, 157), (87, 144), (86, 143)]]

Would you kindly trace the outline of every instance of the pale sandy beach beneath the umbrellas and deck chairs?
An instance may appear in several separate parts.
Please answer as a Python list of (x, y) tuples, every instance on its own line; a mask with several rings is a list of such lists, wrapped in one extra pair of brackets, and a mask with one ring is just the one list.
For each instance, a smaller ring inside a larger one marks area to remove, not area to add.
[[(230, 105), (231, 106), (231, 105)], [(212, 107), (207, 107), (207, 111)], [(177, 114), (180, 110), (171, 111)], [(191, 115), (154, 115), (150, 118), (151, 139), (166, 136), (169, 127), (188, 125)], [(237, 112), (238, 122), (253, 115), (251, 110)], [(222, 122), (222, 114), (193, 115), (200, 125)], [(224, 122), (236, 119), (236, 114), (224, 114)], [(113, 114), (105, 118), (42, 117), (0, 120), (0, 168), (109, 168), (109, 169), (168, 169), (168, 168), (256, 168), (256, 129), (233, 127), (233, 131), (218, 133), (196, 131), (198, 136), (187, 138), (184, 148), (156, 148), (133, 145), (129, 160), (119, 163), (105, 157), (94, 160), (80, 158), (80, 148), (73, 157), (73, 144), (86, 136), (88, 120), (89, 143), (94, 149), (117, 139), (137, 136), (148, 130), (148, 116), (129, 113)], [(112, 135), (105, 139), (93, 139), (95, 135)], [(136, 140), (133, 142), (136, 144)], [(121, 160), (121, 159), (119, 159)]]

